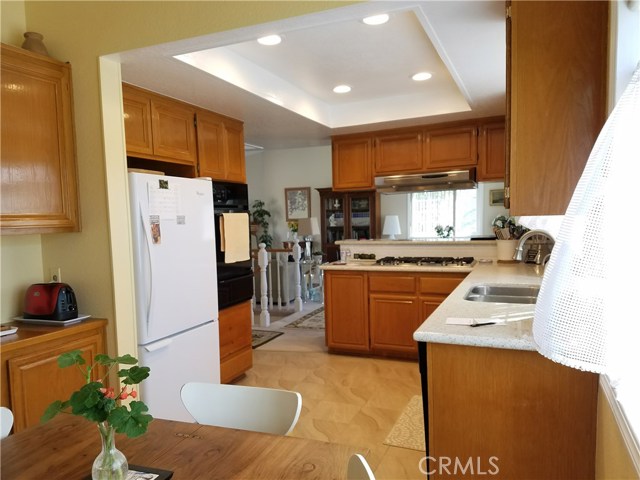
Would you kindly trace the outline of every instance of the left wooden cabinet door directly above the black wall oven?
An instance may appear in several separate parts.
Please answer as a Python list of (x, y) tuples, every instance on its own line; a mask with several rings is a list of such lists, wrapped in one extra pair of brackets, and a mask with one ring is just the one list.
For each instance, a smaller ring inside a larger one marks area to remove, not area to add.
[(199, 175), (214, 180), (226, 180), (224, 123), (218, 115), (203, 111), (198, 111), (196, 119)]

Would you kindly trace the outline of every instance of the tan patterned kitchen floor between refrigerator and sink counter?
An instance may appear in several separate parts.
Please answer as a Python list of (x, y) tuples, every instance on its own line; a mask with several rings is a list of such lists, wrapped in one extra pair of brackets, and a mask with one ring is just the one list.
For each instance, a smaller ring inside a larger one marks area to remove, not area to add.
[(424, 452), (383, 443), (411, 397), (421, 393), (417, 362), (328, 354), (324, 330), (280, 323), (270, 328), (285, 334), (255, 349), (253, 368), (236, 383), (300, 392), (302, 413), (291, 435), (368, 450), (377, 480), (424, 479)]

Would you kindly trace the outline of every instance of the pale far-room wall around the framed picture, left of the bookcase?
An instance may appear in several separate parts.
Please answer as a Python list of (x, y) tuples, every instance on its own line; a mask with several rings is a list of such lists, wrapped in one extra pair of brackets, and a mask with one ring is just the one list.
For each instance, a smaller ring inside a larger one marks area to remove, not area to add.
[[(311, 188), (311, 216), (320, 221), (320, 195), (316, 188), (331, 186), (331, 146), (248, 152), (246, 155), (249, 203), (263, 200), (271, 212), (274, 248), (287, 239), (284, 189)], [(314, 247), (320, 238), (314, 239)], [(318, 243), (319, 245), (319, 243)]]

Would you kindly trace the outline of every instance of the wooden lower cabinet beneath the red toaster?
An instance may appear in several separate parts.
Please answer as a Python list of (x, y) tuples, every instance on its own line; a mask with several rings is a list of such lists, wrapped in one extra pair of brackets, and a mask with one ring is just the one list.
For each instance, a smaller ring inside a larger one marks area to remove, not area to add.
[[(75, 368), (58, 367), (58, 356), (81, 350), (89, 362), (106, 353), (106, 320), (92, 319), (66, 327), (20, 324), (15, 335), (2, 337), (2, 405), (14, 415), (13, 432), (40, 422), (55, 400), (66, 400), (84, 384)], [(92, 373), (94, 379), (101, 371)]]

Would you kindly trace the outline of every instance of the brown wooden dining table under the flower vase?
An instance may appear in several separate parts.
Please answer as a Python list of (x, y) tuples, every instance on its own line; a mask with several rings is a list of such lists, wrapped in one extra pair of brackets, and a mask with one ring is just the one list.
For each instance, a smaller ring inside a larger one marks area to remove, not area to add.
[[(354, 453), (368, 449), (319, 440), (154, 419), (137, 438), (116, 436), (129, 464), (192, 479), (345, 479)], [(95, 423), (61, 414), (0, 442), (2, 479), (90, 478), (100, 453)]]

